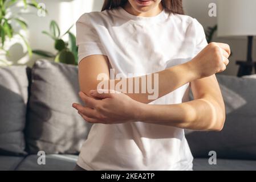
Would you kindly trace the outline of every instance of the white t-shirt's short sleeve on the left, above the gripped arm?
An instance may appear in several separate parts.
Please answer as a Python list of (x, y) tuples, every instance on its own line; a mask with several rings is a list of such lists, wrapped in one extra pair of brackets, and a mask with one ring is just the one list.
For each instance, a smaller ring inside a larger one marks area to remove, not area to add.
[(88, 14), (83, 14), (76, 22), (76, 45), (78, 62), (90, 55), (106, 55)]

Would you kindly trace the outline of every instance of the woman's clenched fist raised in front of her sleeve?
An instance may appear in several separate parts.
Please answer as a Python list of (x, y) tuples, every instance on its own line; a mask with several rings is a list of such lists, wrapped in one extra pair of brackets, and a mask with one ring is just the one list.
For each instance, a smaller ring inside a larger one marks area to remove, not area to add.
[(198, 78), (223, 72), (229, 64), (230, 47), (224, 43), (210, 43), (188, 62)]

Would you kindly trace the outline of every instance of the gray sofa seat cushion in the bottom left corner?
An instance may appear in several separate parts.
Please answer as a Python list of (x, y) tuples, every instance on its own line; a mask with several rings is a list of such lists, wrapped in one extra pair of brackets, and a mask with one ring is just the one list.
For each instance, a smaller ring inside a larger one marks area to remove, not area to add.
[(0, 155), (0, 171), (14, 171), (25, 156), (4, 156)]

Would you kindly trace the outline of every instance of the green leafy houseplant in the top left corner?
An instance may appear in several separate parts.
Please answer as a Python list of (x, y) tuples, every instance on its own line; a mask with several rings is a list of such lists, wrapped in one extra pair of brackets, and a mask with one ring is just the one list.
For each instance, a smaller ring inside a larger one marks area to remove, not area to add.
[[(19, 18), (17, 12), (13, 12), (11, 10), (11, 7), (17, 5), (19, 2), (22, 2), (22, 9), (27, 9), (28, 6), (38, 10), (41, 9), (41, 7), (38, 6), (38, 2), (36, 2), (36, 0), (0, 0), (0, 49), (5, 52), (6, 56), (9, 56), (9, 52), (5, 48), (6, 40), (11, 40), (14, 35), (18, 35), (22, 38), (27, 47), (27, 52), (30, 56), (32, 55), (32, 50), (29, 46), (29, 43), (27, 43), (27, 40), (22, 34), (20, 34), (18, 31), (15, 31), (13, 28), (13, 23), (15, 22), (18, 23), (19, 27), (23, 30), (27, 30), (28, 27), (25, 20)], [(4, 60), (1, 61), (5, 62)]]

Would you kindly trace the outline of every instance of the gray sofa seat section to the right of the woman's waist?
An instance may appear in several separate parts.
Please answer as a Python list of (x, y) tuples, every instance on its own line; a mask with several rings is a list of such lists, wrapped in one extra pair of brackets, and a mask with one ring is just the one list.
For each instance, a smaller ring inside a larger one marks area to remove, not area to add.
[(217, 159), (217, 164), (210, 165), (208, 158), (196, 158), (194, 171), (255, 171), (256, 160)]

